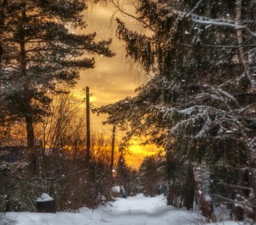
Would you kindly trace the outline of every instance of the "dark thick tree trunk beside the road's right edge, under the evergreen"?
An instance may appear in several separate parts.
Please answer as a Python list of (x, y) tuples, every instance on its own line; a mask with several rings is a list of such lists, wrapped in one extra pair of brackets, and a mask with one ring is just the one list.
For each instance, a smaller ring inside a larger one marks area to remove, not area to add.
[(192, 163), (187, 166), (187, 184), (185, 193), (185, 206), (187, 210), (193, 210), (195, 192), (195, 179)]

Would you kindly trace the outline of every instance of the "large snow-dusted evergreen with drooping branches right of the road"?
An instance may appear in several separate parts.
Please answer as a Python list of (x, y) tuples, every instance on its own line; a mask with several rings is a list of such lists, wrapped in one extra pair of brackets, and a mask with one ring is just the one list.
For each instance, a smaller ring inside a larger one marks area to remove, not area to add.
[(239, 0), (138, 1), (137, 20), (151, 36), (119, 19), (117, 36), (154, 77), (136, 97), (98, 112), (108, 113), (108, 123), (129, 124), (126, 139), (149, 136), (184, 160), (233, 158), (240, 185), (255, 193), (254, 6)]

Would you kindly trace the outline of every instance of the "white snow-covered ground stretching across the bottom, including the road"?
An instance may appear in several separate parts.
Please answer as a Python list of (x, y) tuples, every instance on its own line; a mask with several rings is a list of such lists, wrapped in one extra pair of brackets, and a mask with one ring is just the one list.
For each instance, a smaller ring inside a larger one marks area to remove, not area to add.
[(166, 205), (163, 195), (151, 198), (140, 194), (127, 199), (117, 199), (94, 210), (81, 208), (75, 214), (8, 212), (6, 216), (16, 220), (18, 225), (183, 225), (199, 224), (196, 218), (200, 217), (200, 213)]

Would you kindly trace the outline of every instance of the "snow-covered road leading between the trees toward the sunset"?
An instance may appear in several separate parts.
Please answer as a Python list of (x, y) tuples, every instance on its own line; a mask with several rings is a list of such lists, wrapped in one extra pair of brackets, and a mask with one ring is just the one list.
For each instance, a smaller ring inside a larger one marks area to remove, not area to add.
[(163, 196), (154, 198), (145, 197), (143, 195), (130, 197), (128, 199), (118, 199), (116, 202), (111, 202), (111, 205), (101, 207), (95, 211), (83, 211), (82, 214), (87, 214), (93, 223), (102, 224), (102, 221), (111, 224), (190, 224), (193, 217), (197, 214), (191, 214), (190, 211), (178, 210), (171, 205), (166, 205)]

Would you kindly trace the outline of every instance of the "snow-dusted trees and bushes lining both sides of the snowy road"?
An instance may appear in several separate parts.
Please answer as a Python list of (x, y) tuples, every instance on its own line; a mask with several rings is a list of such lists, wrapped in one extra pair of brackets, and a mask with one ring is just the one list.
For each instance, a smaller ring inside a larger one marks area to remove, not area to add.
[[(255, 1), (128, 3), (133, 10), (115, 0), (105, 7), (141, 27), (115, 20), (126, 58), (148, 80), (134, 97), (93, 109), (126, 133), (116, 148), (94, 134), (87, 149), (82, 103), (70, 91), (94, 68), (93, 55), (115, 55), (111, 39), (69, 30), (86, 30), (86, 1), (0, 1), (0, 211), (35, 211), (41, 193), (59, 211), (94, 208), (120, 185), (125, 196), (164, 193), (167, 204), (200, 209), (209, 222), (221, 220), (221, 208), (229, 220), (254, 223)], [(134, 136), (161, 149), (138, 171), (125, 160)]]

